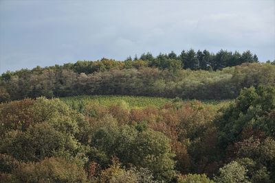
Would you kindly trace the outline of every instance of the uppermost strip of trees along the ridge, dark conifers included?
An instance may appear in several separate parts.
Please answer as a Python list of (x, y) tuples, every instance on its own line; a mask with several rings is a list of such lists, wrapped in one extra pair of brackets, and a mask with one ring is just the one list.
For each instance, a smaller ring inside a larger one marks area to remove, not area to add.
[[(158, 69), (169, 69), (170, 71), (176, 71), (178, 69), (191, 69), (191, 70), (206, 70), (217, 71), (228, 66), (241, 65), (243, 63), (259, 62), (256, 54), (251, 53), (249, 50), (239, 53), (238, 51), (227, 51), (221, 49), (217, 53), (210, 53), (207, 50), (197, 52), (194, 49), (188, 51), (181, 51), (181, 54), (177, 56), (174, 51), (170, 53), (159, 53), (158, 56), (153, 56), (151, 53), (142, 53), (138, 58), (131, 58), (129, 56), (124, 61), (118, 61), (113, 59), (102, 58), (96, 61), (78, 61), (76, 63), (67, 63), (63, 65), (46, 66), (41, 68), (37, 66), (32, 71), (43, 69), (70, 69), (76, 73), (90, 74), (99, 71), (109, 71), (110, 69), (139, 69), (140, 67), (155, 67)], [(274, 62), (269, 63), (274, 64)], [(10, 72), (7, 71), (3, 75), (21, 75), (24, 72), (31, 72), (28, 69), (22, 69), (21, 71)]]

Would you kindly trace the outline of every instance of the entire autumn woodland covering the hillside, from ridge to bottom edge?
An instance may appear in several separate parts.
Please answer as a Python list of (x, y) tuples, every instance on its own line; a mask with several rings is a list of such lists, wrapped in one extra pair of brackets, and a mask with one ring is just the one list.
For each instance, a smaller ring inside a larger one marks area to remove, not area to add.
[(8, 71), (0, 101), (1, 182), (275, 182), (275, 65), (250, 51)]

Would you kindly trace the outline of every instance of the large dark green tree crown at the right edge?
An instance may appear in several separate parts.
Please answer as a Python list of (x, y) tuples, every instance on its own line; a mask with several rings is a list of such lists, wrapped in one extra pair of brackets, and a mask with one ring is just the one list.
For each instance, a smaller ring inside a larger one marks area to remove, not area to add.
[(241, 138), (245, 128), (259, 129), (274, 137), (275, 88), (245, 88), (235, 103), (217, 120), (219, 144), (223, 147)]

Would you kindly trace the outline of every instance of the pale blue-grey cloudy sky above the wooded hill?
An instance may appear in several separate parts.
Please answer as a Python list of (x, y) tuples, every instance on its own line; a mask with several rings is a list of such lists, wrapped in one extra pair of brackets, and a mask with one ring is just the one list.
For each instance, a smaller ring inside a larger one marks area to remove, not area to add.
[(190, 48), (275, 60), (275, 1), (0, 0), (0, 73)]

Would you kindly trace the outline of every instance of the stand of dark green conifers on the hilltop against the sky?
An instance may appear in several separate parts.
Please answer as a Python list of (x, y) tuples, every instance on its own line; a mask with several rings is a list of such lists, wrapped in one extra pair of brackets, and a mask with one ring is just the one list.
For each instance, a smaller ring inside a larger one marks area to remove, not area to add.
[[(217, 53), (210, 53), (206, 49), (203, 51), (194, 49), (181, 51), (179, 56), (174, 51), (168, 54), (159, 53), (154, 57), (151, 53), (143, 53), (140, 60), (148, 60), (148, 66), (156, 66), (161, 69), (169, 68), (167, 63), (172, 62), (174, 67), (181, 66), (183, 69), (217, 71), (227, 66), (236, 66), (245, 62), (259, 62), (256, 54), (249, 50), (239, 53), (238, 51), (227, 51), (221, 49)], [(132, 60), (131, 57), (126, 60)], [(137, 56), (133, 60), (138, 60)], [(173, 66), (172, 66), (173, 67)]]

